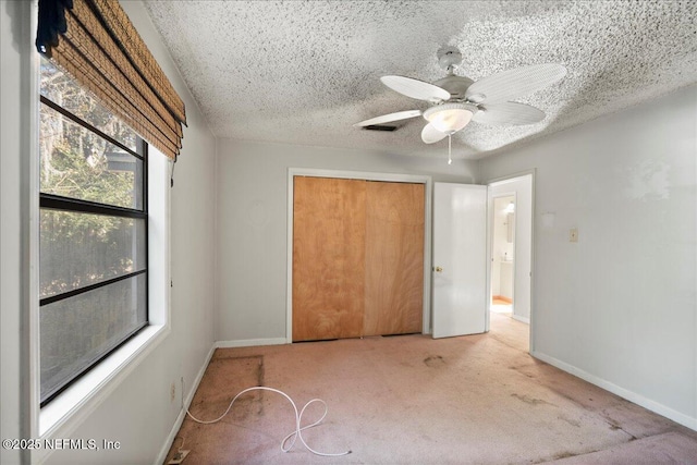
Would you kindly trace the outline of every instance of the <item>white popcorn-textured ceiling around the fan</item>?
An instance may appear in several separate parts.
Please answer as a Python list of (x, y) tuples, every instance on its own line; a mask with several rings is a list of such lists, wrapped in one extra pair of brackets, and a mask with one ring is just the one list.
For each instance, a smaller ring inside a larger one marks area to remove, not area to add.
[(379, 77), (443, 77), (437, 50), (456, 46), (474, 81), (561, 63), (561, 82), (516, 101), (547, 118), (470, 123), (453, 157), (476, 159), (697, 82), (697, 1), (146, 1), (219, 137), (442, 158), (414, 118), (394, 132), (353, 124), (428, 108)]

